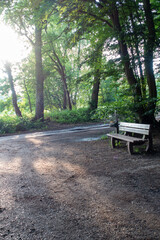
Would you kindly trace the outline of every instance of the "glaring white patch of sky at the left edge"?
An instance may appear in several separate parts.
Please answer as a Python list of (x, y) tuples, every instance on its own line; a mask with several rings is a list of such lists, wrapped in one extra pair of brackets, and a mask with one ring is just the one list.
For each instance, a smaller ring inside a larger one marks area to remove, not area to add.
[(0, 24), (0, 36), (0, 65), (6, 61), (20, 62), (27, 55), (24, 43), (9, 26)]

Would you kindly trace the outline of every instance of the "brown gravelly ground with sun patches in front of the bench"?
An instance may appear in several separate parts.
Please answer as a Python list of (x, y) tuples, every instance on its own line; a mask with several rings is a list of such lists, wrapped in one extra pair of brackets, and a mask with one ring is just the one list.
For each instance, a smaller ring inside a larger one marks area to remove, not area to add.
[(160, 134), (153, 137), (152, 154), (132, 156), (110, 139), (71, 134), (1, 141), (0, 240), (159, 240)]

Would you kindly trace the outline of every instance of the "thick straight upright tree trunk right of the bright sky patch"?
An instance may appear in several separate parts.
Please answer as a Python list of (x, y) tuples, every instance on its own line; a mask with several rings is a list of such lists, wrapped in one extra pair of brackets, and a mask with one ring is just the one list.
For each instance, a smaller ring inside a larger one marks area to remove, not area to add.
[(35, 60), (36, 60), (36, 114), (35, 119), (44, 120), (44, 75), (42, 67), (42, 29), (35, 28)]

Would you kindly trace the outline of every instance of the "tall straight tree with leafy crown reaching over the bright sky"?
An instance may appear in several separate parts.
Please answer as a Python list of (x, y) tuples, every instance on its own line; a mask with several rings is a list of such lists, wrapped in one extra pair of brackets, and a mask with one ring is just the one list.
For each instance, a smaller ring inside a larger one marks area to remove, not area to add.
[[(35, 50), (36, 111), (35, 119), (44, 118), (44, 75), (42, 66), (42, 29), (44, 13), (41, 1), (12, 2), (5, 10), (5, 18), (17, 32), (25, 36)], [(29, 9), (29, 11), (28, 11)], [(44, 21), (43, 21), (44, 20)], [(33, 32), (34, 30), (34, 32)]]

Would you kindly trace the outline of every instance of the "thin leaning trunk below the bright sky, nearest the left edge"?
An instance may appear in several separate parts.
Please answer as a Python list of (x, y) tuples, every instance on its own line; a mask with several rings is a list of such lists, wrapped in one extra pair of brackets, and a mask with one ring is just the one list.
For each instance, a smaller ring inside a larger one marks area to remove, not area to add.
[(11, 87), (12, 103), (13, 103), (15, 113), (18, 117), (22, 117), (21, 111), (20, 111), (20, 109), (18, 107), (18, 104), (17, 104), (17, 94), (16, 94), (16, 91), (15, 91), (15, 88), (14, 88), (12, 71), (11, 71), (11, 67), (10, 67), (9, 63), (5, 64), (5, 69), (6, 69), (6, 72), (8, 74), (8, 80), (9, 80), (9, 84), (10, 84), (10, 87)]

